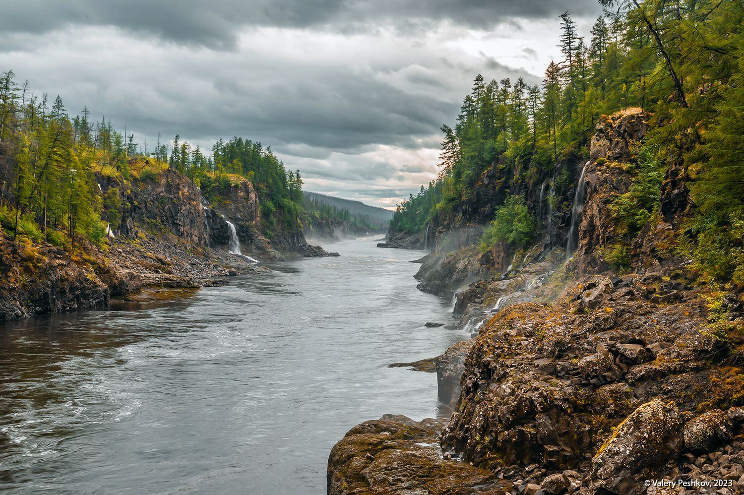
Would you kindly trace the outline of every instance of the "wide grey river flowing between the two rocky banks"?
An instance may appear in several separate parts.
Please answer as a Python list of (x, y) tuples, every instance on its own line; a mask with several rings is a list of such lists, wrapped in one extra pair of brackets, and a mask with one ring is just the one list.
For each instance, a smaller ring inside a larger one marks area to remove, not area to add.
[(331, 447), (385, 413), (443, 415), (435, 374), (389, 363), (464, 332), (421, 293), (421, 251), (333, 244), (340, 258), (181, 301), (0, 325), (0, 491), (325, 493)]

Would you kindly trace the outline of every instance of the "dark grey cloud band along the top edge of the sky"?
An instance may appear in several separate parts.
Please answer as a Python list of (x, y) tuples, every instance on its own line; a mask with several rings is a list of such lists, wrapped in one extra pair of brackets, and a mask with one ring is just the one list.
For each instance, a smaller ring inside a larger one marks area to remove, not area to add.
[(43, 33), (75, 25), (115, 26), (169, 42), (234, 48), (241, 28), (275, 26), (359, 32), (380, 23), (401, 31), (450, 22), (489, 29), (517, 19), (600, 12), (596, 0), (25, 0), (6, 2), (0, 32)]

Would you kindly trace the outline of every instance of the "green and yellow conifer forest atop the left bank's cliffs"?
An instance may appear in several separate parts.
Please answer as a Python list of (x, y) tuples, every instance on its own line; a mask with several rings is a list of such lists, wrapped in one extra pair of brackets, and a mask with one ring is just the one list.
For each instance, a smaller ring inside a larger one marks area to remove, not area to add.
[(234, 176), (249, 179), (260, 193), (263, 226), (275, 220), (298, 224), (302, 204), (299, 170), (286, 170), (270, 147), (234, 137), (220, 139), (206, 156), (176, 135), (160, 135), (153, 150), (135, 143), (128, 131), (105, 118), (92, 121), (89, 109), (71, 118), (62, 98), (33, 95), (13, 71), (0, 77), (0, 227), (13, 236), (57, 246), (78, 238), (100, 242), (116, 229), (121, 206), (118, 188), (103, 191), (100, 181), (126, 185), (155, 179), (170, 168), (193, 179), (205, 192), (229, 186)]

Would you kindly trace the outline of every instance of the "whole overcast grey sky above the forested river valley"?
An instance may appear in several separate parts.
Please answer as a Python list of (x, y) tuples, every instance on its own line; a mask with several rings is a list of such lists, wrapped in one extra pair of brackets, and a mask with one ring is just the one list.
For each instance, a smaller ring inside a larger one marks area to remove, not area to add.
[(437, 174), (479, 72), (539, 82), (568, 10), (597, 0), (24, 0), (0, 6), (0, 72), (87, 105), (152, 149), (271, 145), (305, 189), (392, 207)]

